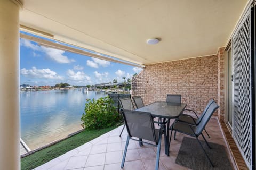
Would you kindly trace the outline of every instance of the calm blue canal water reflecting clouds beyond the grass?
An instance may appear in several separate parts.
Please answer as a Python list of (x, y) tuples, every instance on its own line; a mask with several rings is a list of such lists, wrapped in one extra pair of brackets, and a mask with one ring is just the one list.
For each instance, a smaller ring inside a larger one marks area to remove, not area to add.
[(35, 149), (82, 129), (86, 99), (104, 96), (103, 92), (77, 89), (21, 92), (21, 138)]

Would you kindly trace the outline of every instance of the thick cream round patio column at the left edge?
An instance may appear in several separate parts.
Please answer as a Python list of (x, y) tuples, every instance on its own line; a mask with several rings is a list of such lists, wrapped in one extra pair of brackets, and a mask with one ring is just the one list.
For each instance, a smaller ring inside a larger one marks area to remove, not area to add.
[(0, 169), (20, 169), (19, 0), (0, 1)]

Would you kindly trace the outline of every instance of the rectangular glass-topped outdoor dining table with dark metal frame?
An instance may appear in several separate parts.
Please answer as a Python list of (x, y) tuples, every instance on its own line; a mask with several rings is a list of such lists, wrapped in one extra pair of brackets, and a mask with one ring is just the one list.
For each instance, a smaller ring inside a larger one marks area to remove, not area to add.
[(153, 117), (164, 118), (167, 120), (167, 155), (169, 156), (169, 127), (170, 127), (170, 120), (178, 118), (179, 115), (182, 114), (184, 109), (186, 108), (187, 104), (185, 103), (168, 103), (165, 101), (156, 101), (154, 103), (145, 105), (141, 108), (136, 109), (136, 111), (141, 112), (150, 112)]

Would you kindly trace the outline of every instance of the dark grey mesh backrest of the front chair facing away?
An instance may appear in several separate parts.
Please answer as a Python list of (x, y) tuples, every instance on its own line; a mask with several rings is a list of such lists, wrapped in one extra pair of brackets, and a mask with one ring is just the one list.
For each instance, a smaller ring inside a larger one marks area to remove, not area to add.
[(122, 110), (121, 112), (130, 137), (146, 139), (157, 144), (151, 113), (130, 110)]

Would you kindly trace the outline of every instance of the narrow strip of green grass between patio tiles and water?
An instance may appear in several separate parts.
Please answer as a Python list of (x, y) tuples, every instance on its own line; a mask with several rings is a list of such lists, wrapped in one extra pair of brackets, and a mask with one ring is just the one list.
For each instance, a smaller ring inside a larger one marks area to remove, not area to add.
[(73, 137), (70, 137), (66, 140), (63, 140), (55, 145), (52, 145), (48, 148), (42, 149), (34, 154), (31, 154), (25, 158), (21, 159), (21, 169), (34, 169), (49, 160), (52, 160), (66, 152), (75, 149), (84, 143), (99, 137), (100, 135), (111, 131), (117, 128), (117, 126), (112, 126), (110, 128), (101, 129), (101, 130), (85, 130), (82, 131)]

